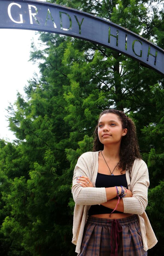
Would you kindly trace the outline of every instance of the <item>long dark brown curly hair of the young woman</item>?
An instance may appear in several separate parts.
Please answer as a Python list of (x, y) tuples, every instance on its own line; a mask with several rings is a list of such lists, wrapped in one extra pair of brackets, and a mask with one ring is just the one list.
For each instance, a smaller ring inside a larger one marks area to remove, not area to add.
[[(122, 128), (123, 129), (127, 128), (127, 134), (124, 137), (122, 137), (122, 140), (121, 140), (119, 167), (122, 170), (129, 170), (129, 172), (131, 173), (134, 160), (136, 158), (141, 159), (138, 140), (136, 136), (136, 126), (134, 122), (125, 115), (124, 112), (116, 109), (107, 109), (101, 112), (101, 114), (99, 115), (98, 123), (102, 115), (109, 114), (109, 113), (117, 115), (118, 119), (122, 123)], [(99, 141), (99, 137), (98, 137), (98, 124), (93, 133), (93, 137), (94, 137), (93, 151), (95, 152), (95, 151), (103, 150), (104, 144), (102, 144)]]

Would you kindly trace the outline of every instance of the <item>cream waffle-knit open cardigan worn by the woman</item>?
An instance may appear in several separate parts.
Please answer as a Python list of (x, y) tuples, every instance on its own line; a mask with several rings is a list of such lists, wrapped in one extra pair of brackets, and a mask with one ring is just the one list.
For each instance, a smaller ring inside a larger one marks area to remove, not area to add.
[[(105, 188), (95, 188), (98, 172), (98, 153), (86, 152), (81, 155), (74, 169), (72, 194), (75, 201), (73, 238), (72, 243), (76, 245), (75, 252), (80, 253), (81, 241), (83, 238), (84, 226), (88, 218), (88, 210), (91, 205), (107, 202)], [(89, 177), (94, 188), (83, 188), (77, 183), (77, 176)], [(147, 206), (147, 194), (149, 186), (148, 169), (145, 162), (136, 159), (133, 164), (131, 178), (126, 171), (128, 189), (133, 197), (123, 197), (124, 213), (137, 214), (142, 234), (143, 249), (147, 251), (157, 243), (157, 238), (150, 225), (145, 208)]]

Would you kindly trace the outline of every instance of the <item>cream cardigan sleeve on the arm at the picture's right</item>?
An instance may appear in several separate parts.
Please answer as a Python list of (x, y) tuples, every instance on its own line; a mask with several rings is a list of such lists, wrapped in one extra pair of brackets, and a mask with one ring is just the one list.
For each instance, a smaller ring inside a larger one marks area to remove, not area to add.
[[(133, 170), (132, 170), (133, 171)], [(147, 165), (143, 160), (137, 162), (135, 175), (131, 178), (132, 197), (123, 197), (124, 213), (141, 215), (148, 203), (149, 174)]]

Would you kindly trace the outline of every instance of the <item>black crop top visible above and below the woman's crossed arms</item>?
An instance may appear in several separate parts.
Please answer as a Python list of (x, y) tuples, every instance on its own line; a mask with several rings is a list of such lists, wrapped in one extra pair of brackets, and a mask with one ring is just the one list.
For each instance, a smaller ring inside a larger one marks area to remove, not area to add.
[[(115, 186), (128, 187), (126, 174), (121, 175), (107, 175), (99, 173), (97, 174), (95, 187), (96, 188), (110, 188)], [(91, 205), (88, 216), (95, 214), (111, 213), (113, 209), (107, 208), (103, 205)], [(113, 213), (122, 213), (120, 211), (114, 211)]]

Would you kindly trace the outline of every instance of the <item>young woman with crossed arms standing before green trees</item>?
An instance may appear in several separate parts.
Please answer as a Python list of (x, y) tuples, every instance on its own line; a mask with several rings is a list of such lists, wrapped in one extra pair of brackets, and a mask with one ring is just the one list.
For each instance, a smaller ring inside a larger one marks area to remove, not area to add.
[(157, 243), (145, 213), (149, 176), (141, 160), (133, 121), (103, 111), (94, 152), (75, 166), (73, 239), (79, 256), (145, 256)]

